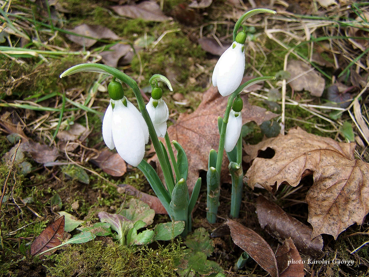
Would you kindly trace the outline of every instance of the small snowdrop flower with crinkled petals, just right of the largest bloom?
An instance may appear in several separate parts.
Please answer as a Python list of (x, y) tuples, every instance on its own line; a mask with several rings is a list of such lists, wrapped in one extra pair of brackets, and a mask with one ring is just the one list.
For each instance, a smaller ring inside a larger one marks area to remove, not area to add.
[(169, 118), (169, 109), (162, 98), (162, 94), (161, 88), (153, 88), (149, 103), (146, 105), (146, 110), (149, 113), (158, 137), (165, 136), (166, 121)]

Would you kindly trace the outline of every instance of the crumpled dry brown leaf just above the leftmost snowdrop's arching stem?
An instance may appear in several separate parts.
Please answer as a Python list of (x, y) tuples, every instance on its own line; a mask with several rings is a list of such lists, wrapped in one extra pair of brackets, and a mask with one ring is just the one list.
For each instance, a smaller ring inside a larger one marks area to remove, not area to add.
[(116, 68), (118, 67), (118, 61), (123, 57), (123, 59), (125, 59), (125, 57), (128, 58), (128, 56), (130, 56), (129, 59), (126, 59), (124, 63), (131, 63), (133, 58), (133, 49), (128, 44), (118, 43), (110, 47), (109, 50), (101, 52), (100, 55), (103, 58), (104, 64)]

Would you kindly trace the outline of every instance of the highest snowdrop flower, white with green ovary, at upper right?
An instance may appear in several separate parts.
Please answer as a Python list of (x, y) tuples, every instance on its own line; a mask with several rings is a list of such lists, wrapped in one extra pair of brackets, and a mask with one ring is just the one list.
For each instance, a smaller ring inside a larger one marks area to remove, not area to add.
[(236, 40), (224, 51), (214, 67), (211, 81), (222, 96), (228, 96), (241, 84), (245, 71), (246, 33), (241, 31)]

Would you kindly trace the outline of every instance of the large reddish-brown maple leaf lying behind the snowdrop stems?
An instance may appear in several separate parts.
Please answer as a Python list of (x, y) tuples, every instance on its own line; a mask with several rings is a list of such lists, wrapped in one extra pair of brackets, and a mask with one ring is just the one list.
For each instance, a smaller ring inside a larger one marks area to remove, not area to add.
[[(262, 107), (250, 105), (246, 94), (241, 95), (241, 97), (244, 100), (244, 109), (242, 110), (243, 124), (254, 121), (259, 125), (265, 120), (270, 120), (277, 116), (277, 114), (269, 112)], [(190, 191), (192, 191), (197, 178), (199, 178), (200, 170), (208, 170), (208, 156), (211, 148), (218, 151), (218, 117), (224, 116), (227, 101), (228, 97), (221, 96), (218, 89), (211, 86), (203, 94), (203, 100), (196, 111), (190, 114), (181, 114), (177, 122), (168, 127), (170, 140), (178, 141), (186, 152), (189, 163), (187, 185)], [(165, 142), (163, 141), (163, 143)], [(159, 164), (156, 155), (152, 160)], [(229, 161), (224, 152), (221, 170), (222, 182), (230, 182), (231, 180), (228, 164)]]

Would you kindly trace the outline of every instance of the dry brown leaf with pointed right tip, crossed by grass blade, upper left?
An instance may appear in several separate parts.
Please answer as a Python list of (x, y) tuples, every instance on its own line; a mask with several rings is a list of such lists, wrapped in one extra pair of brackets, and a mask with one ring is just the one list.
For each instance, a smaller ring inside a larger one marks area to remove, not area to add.
[(119, 37), (110, 29), (100, 25), (87, 25), (82, 24), (74, 27), (72, 30), (68, 30), (69, 32), (76, 33), (79, 35), (85, 35), (91, 38), (79, 37), (77, 35), (67, 34), (66, 36), (69, 40), (79, 44), (81, 46), (85, 46), (86, 48), (91, 47), (95, 44), (97, 40), (100, 39), (110, 39), (110, 40), (119, 40)]

